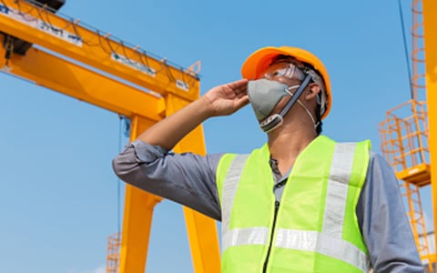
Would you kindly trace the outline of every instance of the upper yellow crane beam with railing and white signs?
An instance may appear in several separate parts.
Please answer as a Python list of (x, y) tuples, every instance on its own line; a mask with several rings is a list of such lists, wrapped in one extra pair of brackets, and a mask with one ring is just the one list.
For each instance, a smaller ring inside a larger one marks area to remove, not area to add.
[(66, 19), (23, 0), (0, 2), (0, 31), (163, 96), (171, 93), (194, 100), (199, 95), (199, 79), (192, 70), (171, 66), (137, 46), (127, 46), (108, 34), (80, 25), (78, 20)]

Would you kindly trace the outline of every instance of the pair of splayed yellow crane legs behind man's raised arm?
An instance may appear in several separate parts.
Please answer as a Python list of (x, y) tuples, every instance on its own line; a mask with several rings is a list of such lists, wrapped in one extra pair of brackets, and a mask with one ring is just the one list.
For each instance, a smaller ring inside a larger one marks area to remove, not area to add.
[[(178, 109), (187, 106), (188, 103), (187, 99), (168, 95), (165, 106), (166, 116), (170, 116)], [(137, 138), (152, 124), (151, 120), (134, 116), (132, 118), (131, 140)], [(188, 136), (185, 136), (174, 150), (178, 153), (190, 151), (204, 155), (206, 148), (202, 127), (198, 126)], [(160, 197), (127, 186), (120, 249), (120, 273), (144, 272), (153, 208), (160, 200)], [(184, 215), (194, 272), (219, 273), (220, 253), (216, 222), (188, 207), (184, 207)]]

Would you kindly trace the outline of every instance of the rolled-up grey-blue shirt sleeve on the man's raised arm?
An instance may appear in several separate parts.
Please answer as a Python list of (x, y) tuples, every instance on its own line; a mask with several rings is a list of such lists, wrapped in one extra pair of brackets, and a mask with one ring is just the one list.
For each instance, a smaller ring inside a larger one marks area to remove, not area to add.
[(113, 159), (117, 177), (159, 197), (221, 219), (216, 169), (222, 154), (174, 154), (136, 140)]

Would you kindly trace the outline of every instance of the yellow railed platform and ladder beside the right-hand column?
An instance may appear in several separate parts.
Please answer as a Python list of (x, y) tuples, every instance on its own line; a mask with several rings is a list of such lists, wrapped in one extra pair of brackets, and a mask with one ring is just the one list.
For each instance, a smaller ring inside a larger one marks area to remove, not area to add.
[(400, 180), (401, 195), (407, 201), (407, 216), (412, 225), (416, 245), (425, 264), (429, 263), (430, 248), (422, 211), (420, 187), (431, 183), (429, 165), (426, 104), (412, 99), (392, 108), (378, 129), (381, 152)]

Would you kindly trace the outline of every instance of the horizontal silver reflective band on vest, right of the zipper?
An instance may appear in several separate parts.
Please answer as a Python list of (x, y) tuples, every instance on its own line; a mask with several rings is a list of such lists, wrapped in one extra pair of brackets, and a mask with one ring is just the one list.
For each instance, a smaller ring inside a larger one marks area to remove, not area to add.
[(369, 259), (360, 248), (341, 238), (332, 238), (317, 231), (278, 228), (276, 247), (317, 252), (338, 258), (363, 272), (369, 271)]

